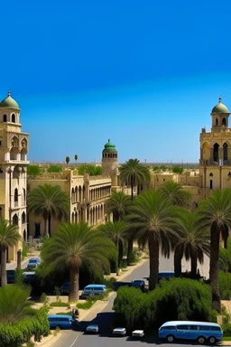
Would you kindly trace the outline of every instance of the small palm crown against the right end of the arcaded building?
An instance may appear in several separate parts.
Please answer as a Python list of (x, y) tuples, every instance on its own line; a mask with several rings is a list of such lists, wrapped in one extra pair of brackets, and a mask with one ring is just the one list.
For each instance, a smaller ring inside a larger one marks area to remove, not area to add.
[(106, 212), (113, 213), (113, 220), (124, 220), (132, 202), (128, 195), (124, 192), (113, 192), (108, 200), (106, 200)]

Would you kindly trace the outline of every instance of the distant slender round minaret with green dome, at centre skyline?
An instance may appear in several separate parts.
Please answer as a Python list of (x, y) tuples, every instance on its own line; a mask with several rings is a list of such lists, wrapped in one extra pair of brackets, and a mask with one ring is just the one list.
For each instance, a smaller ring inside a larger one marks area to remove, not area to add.
[(110, 174), (113, 187), (118, 185), (118, 158), (115, 145), (108, 139), (104, 150), (102, 151), (102, 166), (104, 172)]

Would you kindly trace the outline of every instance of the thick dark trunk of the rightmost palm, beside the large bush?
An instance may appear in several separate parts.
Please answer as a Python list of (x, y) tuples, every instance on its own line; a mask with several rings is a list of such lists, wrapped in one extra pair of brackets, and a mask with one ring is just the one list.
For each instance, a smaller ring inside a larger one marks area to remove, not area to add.
[(219, 258), (219, 239), (220, 230), (213, 223), (210, 234), (210, 264), (209, 264), (209, 281), (212, 290), (212, 308), (218, 313), (221, 310), (220, 293), (218, 285), (218, 258)]

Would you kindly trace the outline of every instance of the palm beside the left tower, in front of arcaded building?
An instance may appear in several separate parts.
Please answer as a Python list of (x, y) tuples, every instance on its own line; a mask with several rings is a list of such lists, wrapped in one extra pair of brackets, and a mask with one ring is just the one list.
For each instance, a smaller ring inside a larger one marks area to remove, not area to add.
[(51, 218), (69, 216), (69, 195), (59, 185), (38, 185), (28, 193), (28, 211), (43, 217), (44, 234), (51, 236)]

